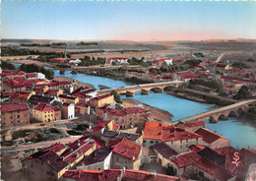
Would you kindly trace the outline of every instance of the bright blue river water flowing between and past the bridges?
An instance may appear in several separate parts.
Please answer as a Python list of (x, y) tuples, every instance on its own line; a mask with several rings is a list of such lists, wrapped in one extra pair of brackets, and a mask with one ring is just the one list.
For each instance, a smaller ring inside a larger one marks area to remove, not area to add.
[[(98, 85), (104, 85), (109, 88), (125, 87), (134, 85), (133, 83), (116, 81), (108, 78), (89, 76), (85, 74), (71, 74), (66, 71), (64, 75), (60, 75), (59, 71), (54, 71), (55, 77), (71, 78), (83, 83), (89, 83), (98, 90)], [(172, 121), (189, 117), (195, 114), (206, 112), (218, 108), (218, 105), (195, 102), (183, 98), (163, 93), (155, 93), (151, 91), (148, 95), (142, 95), (139, 91), (135, 92), (135, 96), (122, 98), (133, 98), (142, 103), (149, 104), (154, 107), (166, 110), (173, 115)], [(230, 144), (234, 149), (250, 149), (256, 150), (256, 117), (249, 115), (240, 115), (239, 117), (229, 117), (228, 120), (219, 121), (218, 123), (209, 123), (208, 129), (216, 132), (230, 140)]]

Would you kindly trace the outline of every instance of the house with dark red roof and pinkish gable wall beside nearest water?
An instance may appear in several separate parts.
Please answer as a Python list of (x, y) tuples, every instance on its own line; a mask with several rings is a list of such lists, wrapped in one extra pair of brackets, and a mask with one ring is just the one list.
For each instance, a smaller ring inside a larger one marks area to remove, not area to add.
[(222, 149), (230, 146), (228, 139), (210, 130), (199, 128), (195, 133), (201, 135), (203, 137), (203, 143), (211, 149)]

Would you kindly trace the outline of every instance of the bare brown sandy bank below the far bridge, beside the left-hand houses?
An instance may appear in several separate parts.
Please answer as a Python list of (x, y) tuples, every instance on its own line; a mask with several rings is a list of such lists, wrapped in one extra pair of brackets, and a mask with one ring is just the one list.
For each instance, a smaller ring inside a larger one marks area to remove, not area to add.
[(137, 100), (134, 99), (122, 99), (123, 104), (126, 106), (134, 106), (134, 105), (139, 105), (143, 104), (143, 106), (151, 111), (151, 118), (160, 120), (163, 122), (171, 122), (171, 118), (173, 117), (172, 114), (170, 114), (168, 111), (162, 110), (157, 107), (153, 107), (151, 105), (141, 103)]

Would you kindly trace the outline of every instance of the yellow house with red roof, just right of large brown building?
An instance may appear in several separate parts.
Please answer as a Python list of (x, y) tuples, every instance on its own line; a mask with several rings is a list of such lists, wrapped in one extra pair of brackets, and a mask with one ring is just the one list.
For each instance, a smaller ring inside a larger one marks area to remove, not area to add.
[[(58, 117), (55, 117), (55, 114)], [(46, 104), (37, 104), (32, 109), (32, 118), (40, 122), (52, 122), (61, 117), (60, 108), (57, 106), (48, 106)]]

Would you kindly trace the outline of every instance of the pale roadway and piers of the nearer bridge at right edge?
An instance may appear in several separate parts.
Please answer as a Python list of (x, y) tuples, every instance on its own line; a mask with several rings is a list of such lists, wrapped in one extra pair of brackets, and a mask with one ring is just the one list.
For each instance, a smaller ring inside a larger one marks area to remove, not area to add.
[(231, 105), (227, 105), (227, 106), (224, 106), (224, 107), (212, 110), (212, 111), (204, 112), (204, 113), (201, 113), (201, 114), (196, 114), (194, 116), (187, 117), (187, 118), (175, 121), (175, 122), (173, 122), (173, 124), (179, 123), (179, 122), (188, 123), (188, 122), (193, 122), (193, 121), (199, 120), (199, 119), (204, 119), (205, 120), (208, 117), (212, 117), (214, 115), (218, 115), (218, 117), (215, 118), (217, 120), (214, 120), (214, 121), (217, 122), (221, 115), (226, 114), (225, 112), (227, 112), (227, 117), (228, 117), (229, 113), (231, 111), (235, 110), (235, 109), (237, 110), (237, 109), (242, 107), (243, 108), (242, 110), (246, 111), (246, 110), (244, 110), (244, 106), (248, 107), (248, 105), (249, 105), (249, 107), (250, 107), (250, 105), (255, 107), (256, 106), (256, 99), (243, 100), (243, 101), (240, 101), (240, 102), (237, 102), (237, 103), (234, 103), (234, 104), (231, 104)]

